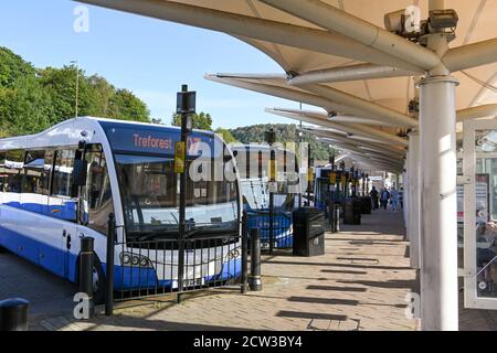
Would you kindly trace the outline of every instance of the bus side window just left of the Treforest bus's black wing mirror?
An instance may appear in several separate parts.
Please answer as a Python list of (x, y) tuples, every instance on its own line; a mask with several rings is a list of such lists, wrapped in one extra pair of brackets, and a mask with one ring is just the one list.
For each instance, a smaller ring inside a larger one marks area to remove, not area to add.
[(52, 192), (49, 197), (49, 214), (56, 218), (76, 222), (76, 200), (71, 197), (75, 149), (55, 151)]

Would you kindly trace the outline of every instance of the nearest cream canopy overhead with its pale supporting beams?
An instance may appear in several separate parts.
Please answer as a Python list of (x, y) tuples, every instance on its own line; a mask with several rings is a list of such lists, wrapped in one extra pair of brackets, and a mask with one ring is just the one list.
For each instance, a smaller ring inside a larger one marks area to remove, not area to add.
[[(441, 68), (459, 82), (458, 121), (497, 116), (495, 0), (83, 2), (235, 36), (272, 57), (282, 73), (209, 74), (208, 79), (319, 107), (318, 117), (286, 116), (327, 128), (329, 120), (335, 129), (352, 129), (377, 142), (406, 147), (403, 132), (419, 124), (408, 108), (416, 96), (415, 82)], [(445, 53), (384, 29), (387, 13), (416, 6), (426, 19), (429, 7), (437, 4), (458, 14), (455, 40)]]

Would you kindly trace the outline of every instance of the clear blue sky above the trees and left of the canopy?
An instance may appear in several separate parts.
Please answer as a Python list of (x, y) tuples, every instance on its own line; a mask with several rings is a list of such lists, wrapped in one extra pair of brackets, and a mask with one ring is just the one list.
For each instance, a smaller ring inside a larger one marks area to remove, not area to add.
[(0, 46), (36, 67), (71, 61), (127, 88), (169, 124), (182, 84), (197, 92), (197, 111), (210, 113), (213, 127), (295, 121), (264, 113), (266, 107), (298, 108), (295, 101), (221, 85), (205, 73), (283, 73), (262, 52), (226, 34), (83, 4), (88, 32), (76, 32), (70, 0), (0, 0)]

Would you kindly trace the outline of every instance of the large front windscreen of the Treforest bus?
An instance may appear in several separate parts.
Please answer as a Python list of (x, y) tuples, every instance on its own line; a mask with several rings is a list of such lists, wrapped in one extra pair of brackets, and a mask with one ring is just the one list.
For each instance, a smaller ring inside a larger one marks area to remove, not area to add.
[[(192, 161), (187, 162), (190, 169)], [(203, 168), (203, 167), (202, 167)], [(179, 220), (179, 182), (173, 159), (116, 154), (127, 235), (176, 237)], [(212, 171), (205, 171), (212, 176)], [(187, 222), (195, 235), (234, 232), (237, 227), (236, 182), (225, 179), (187, 182)]]

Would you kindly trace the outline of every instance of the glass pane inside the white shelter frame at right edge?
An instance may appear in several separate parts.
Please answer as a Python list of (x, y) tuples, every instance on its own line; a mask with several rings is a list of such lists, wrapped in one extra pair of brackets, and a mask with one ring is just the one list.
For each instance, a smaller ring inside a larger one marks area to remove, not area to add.
[(497, 298), (497, 132), (476, 131), (476, 267), (477, 295)]

